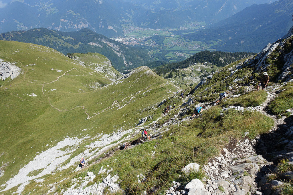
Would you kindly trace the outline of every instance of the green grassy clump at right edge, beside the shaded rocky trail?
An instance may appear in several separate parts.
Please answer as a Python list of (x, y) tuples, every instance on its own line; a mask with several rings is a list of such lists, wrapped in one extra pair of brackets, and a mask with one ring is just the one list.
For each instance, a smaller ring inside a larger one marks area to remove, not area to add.
[(293, 107), (293, 87), (292, 82), (287, 83), (280, 90), (282, 92), (268, 106), (275, 115), (283, 114), (287, 109)]

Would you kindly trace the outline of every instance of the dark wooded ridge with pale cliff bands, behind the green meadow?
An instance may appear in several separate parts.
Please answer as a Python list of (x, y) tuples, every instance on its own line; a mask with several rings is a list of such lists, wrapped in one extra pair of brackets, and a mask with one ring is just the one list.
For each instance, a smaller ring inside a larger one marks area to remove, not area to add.
[(128, 70), (153, 61), (147, 51), (109, 39), (89, 29), (77, 32), (61, 32), (46, 28), (28, 31), (12, 31), (0, 34), (2, 40), (39, 44), (67, 53), (100, 53), (119, 70)]

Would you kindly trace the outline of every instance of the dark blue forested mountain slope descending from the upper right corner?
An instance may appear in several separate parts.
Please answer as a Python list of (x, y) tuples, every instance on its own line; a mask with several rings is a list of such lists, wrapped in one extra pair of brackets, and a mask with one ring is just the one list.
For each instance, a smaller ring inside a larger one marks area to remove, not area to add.
[(293, 1), (279, 0), (271, 4), (252, 5), (219, 23), (193, 34), (190, 40), (219, 41), (212, 47), (220, 51), (258, 52), (268, 42), (275, 42), (291, 27)]

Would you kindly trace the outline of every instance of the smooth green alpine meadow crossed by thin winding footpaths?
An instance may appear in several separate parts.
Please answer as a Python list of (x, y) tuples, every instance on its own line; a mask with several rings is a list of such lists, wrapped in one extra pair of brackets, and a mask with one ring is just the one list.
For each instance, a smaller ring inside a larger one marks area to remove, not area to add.
[[(71, 59), (45, 46), (0, 41), (0, 58), (22, 71), (13, 80), (0, 81), (0, 191), (21, 168), (26, 180), (50, 179), (49, 170), (67, 164), (102, 134), (136, 127), (149, 115), (158, 118), (157, 104), (180, 90), (147, 67), (113, 82), (120, 74), (105, 56), (74, 55)], [(25, 169), (42, 155), (50, 157), (47, 164)], [(58, 165), (50, 168), (57, 157)]]

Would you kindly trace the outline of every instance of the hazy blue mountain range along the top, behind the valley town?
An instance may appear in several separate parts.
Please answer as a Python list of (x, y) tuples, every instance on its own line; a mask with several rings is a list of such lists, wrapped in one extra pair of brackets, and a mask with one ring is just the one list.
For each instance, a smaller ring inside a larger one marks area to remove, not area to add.
[(271, 1), (193, 0), (160, 1), (158, 4), (122, 0), (16, 0), (0, 7), (0, 32), (39, 27), (62, 31), (89, 28), (111, 37), (123, 35), (124, 29), (134, 26), (178, 28), (200, 22), (209, 24), (253, 3)]

